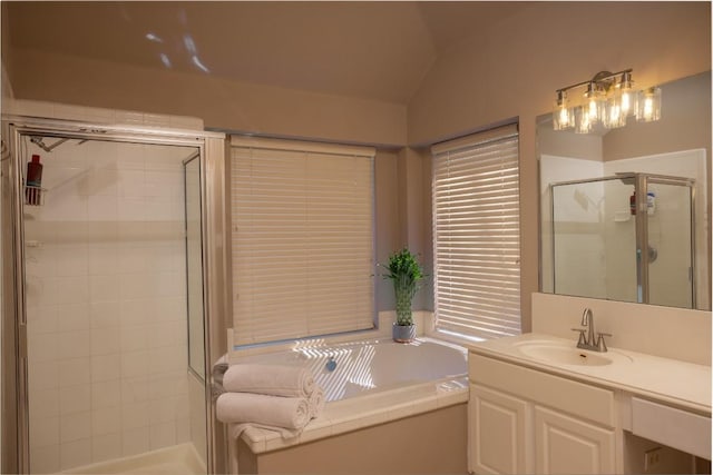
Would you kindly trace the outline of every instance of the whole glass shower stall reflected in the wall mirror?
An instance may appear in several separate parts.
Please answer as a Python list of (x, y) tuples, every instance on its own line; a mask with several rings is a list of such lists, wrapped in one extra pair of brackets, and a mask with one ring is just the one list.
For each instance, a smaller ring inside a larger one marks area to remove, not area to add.
[(694, 190), (634, 172), (550, 185), (554, 291), (696, 308)]

